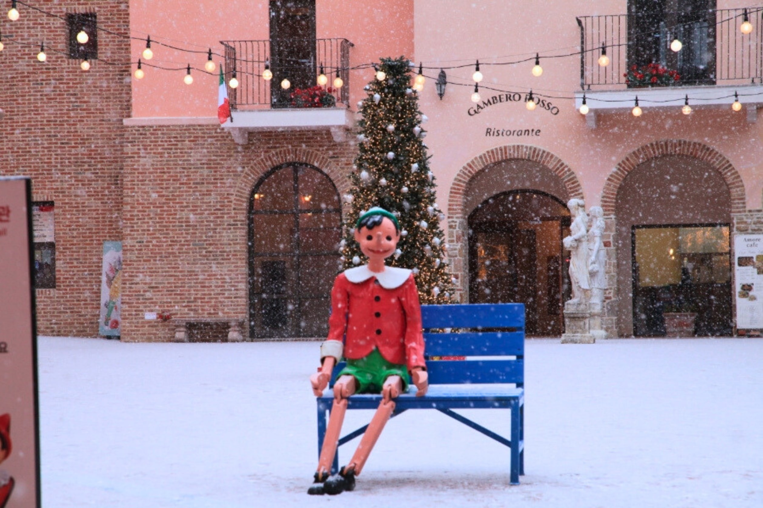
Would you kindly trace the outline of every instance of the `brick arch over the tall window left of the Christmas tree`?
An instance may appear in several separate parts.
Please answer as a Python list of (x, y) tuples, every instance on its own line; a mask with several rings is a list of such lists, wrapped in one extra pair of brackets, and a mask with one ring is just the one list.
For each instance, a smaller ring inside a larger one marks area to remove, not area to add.
[(239, 177), (233, 194), (233, 207), (237, 211), (236, 216), (246, 217), (250, 194), (262, 175), (276, 166), (291, 162), (312, 165), (323, 171), (336, 185), (336, 191), (340, 196), (349, 190), (349, 178), (346, 177), (346, 173), (341, 171), (326, 155), (303, 148), (278, 149), (247, 165)]

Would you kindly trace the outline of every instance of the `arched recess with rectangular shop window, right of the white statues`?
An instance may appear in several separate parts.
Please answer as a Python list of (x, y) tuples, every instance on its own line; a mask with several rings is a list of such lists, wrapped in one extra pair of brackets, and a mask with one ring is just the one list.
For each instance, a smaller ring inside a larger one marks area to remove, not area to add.
[(731, 212), (708, 161), (662, 155), (629, 171), (615, 201), (621, 334), (664, 336), (672, 312), (695, 315), (681, 334), (732, 334)]

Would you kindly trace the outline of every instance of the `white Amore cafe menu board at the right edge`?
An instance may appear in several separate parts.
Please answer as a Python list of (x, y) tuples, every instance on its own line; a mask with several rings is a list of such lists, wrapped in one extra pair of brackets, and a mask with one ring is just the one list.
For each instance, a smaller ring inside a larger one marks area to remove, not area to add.
[(734, 235), (736, 327), (763, 330), (763, 234)]

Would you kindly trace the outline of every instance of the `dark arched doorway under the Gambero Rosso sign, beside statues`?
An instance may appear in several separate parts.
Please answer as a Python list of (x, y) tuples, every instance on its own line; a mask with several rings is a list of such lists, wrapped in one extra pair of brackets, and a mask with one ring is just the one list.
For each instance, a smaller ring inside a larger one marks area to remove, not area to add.
[(469, 301), (523, 303), (526, 334), (560, 336), (569, 225), (562, 200), (539, 190), (510, 190), (480, 203), (468, 216)]

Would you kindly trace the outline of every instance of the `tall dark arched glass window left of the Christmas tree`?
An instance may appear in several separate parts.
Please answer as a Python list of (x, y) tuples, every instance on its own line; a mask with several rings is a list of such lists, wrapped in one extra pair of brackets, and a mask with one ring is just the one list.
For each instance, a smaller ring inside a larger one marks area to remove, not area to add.
[(341, 206), (306, 164), (268, 171), (249, 202), (250, 337), (325, 337), (338, 270)]

